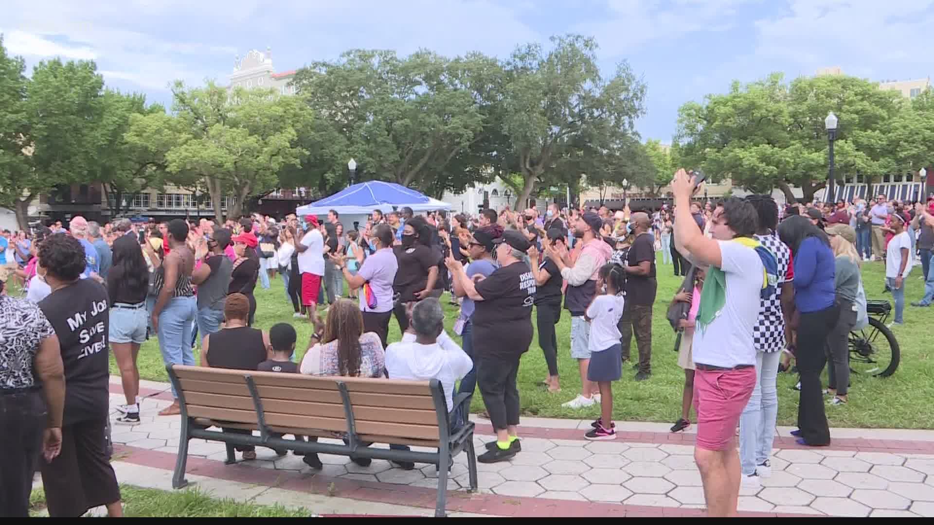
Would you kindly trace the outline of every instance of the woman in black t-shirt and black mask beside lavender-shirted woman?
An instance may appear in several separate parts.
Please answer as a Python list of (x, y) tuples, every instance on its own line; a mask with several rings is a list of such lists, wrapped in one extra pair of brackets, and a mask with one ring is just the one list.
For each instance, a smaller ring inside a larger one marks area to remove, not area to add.
[[(432, 232), (422, 217), (405, 221), (402, 244), (392, 248), (399, 270), (392, 282), (398, 300), (393, 308), (400, 332), (408, 328), (405, 304), (432, 295), (438, 279), (439, 251), (432, 248)], [(440, 291), (435, 292), (440, 296)]]

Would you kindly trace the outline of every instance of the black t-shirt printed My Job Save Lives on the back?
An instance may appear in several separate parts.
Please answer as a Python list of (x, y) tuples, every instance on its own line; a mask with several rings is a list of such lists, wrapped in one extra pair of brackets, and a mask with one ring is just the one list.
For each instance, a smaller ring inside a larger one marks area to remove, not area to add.
[(106, 419), (109, 304), (104, 285), (79, 279), (39, 302), (59, 338), (64, 362), (64, 424)]

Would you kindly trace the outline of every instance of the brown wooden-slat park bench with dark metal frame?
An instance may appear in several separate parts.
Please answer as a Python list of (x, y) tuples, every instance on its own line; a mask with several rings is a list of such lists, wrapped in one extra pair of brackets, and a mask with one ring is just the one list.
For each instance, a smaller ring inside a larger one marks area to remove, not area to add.
[[(439, 517), (445, 516), (448, 468), (463, 450), (467, 452), (470, 487), (476, 490), (474, 423), (465, 421), (451, 433), (449, 422), (457, 418), (460, 405), (469, 396), (458, 395), (448, 414), (445, 393), (436, 379), (302, 376), (181, 365), (166, 369), (178, 393), (182, 419), (172, 476), (175, 489), (188, 484), (188, 442), (199, 438), (226, 444), (228, 464), (235, 462), (234, 446), (245, 445), (433, 464), (438, 467), (435, 516)], [(221, 426), (259, 431), (259, 435), (222, 433)], [(297, 441), (291, 435), (333, 438), (334, 433), (342, 433), (345, 444)], [(290, 434), (290, 439), (279, 434)], [(367, 443), (431, 447), (435, 451), (366, 447)]]

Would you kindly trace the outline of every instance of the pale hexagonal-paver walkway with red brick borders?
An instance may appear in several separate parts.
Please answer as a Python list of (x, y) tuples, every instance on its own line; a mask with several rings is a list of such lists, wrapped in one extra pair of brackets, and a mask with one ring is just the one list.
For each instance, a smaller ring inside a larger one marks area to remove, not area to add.
[[(111, 404), (123, 403), (111, 377)], [(143, 423), (114, 425), (114, 466), (121, 483), (171, 489), (179, 418), (159, 417), (171, 401), (168, 385), (143, 382)], [(475, 441), (488, 441), (476, 421)], [(664, 423), (617, 422), (620, 437), (588, 442), (588, 420), (522, 420), (522, 452), (509, 462), (478, 464), (477, 493), (468, 493), (466, 457), (448, 480), (451, 516), (702, 516), (694, 434), (672, 434)], [(832, 429), (830, 447), (800, 447), (778, 430), (772, 475), (743, 489), (740, 510), (757, 516), (934, 516), (934, 431)], [(379, 445), (375, 445), (379, 447)], [(384, 446), (385, 447), (385, 446)], [(431, 516), (434, 466), (413, 471), (375, 460), (366, 468), (346, 457), (320, 455), (313, 471), (296, 456), (257, 448), (256, 461), (224, 465), (223, 444), (191, 440), (188, 479), (219, 497), (302, 506), (315, 514)]]

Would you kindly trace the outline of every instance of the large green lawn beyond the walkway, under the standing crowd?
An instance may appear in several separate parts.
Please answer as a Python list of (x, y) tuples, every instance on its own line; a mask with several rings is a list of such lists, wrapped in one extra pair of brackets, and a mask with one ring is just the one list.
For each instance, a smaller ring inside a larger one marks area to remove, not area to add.
[[(653, 356), (652, 377), (643, 382), (633, 380), (635, 372), (630, 366), (624, 367), (623, 378), (614, 385), (616, 407), (615, 417), (621, 420), (636, 421), (674, 421), (681, 411), (681, 392), (684, 384), (684, 372), (676, 364), (677, 354), (673, 351), (674, 333), (665, 319), (668, 301), (679, 286), (680, 277), (672, 277), (672, 266), (658, 264), (658, 301), (653, 319)], [(911, 277), (906, 281), (907, 298), (905, 306), (905, 325), (895, 327), (894, 331), (901, 347), (901, 364), (894, 376), (874, 378), (852, 376), (850, 403), (841, 406), (828, 406), (827, 413), (831, 426), (868, 427), (868, 428), (934, 428), (930, 411), (921, 409), (934, 399), (934, 361), (931, 360), (932, 348), (930, 333), (934, 326), (934, 308), (914, 308), (910, 304), (921, 298), (924, 282), (919, 278), (921, 267), (917, 265)], [(891, 295), (883, 293), (884, 268), (881, 262), (863, 264), (863, 283), (869, 299), (888, 299)], [(257, 326), (268, 329), (277, 322), (290, 322), (298, 332), (299, 353), (304, 354), (304, 347), (311, 327), (308, 323), (292, 319), (291, 304), (282, 290), (281, 278), (273, 280), (270, 290), (256, 291), (258, 309)], [(446, 308), (446, 326), (453, 335), (452, 325), (457, 318), (457, 308), (447, 305), (445, 296), (442, 304)], [(532, 316), (534, 324), (534, 316)], [(293, 322), (294, 321), (294, 322)], [(559, 371), (562, 391), (549, 394), (539, 383), (547, 375), (545, 358), (538, 346), (537, 337), (533, 339), (529, 352), (522, 358), (519, 370), (519, 391), (523, 413), (529, 416), (551, 418), (594, 418), (599, 415), (599, 406), (584, 410), (561, 408), (560, 404), (571, 400), (580, 389), (580, 376), (577, 364), (570, 356), (571, 318), (567, 311), (561, 314), (558, 325)], [(927, 333), (927, 335), (925, 335)], [(390, 322), (389, 341), (398, 341), (399, 326), (393, 319)], [(632, 355), (638, 355), (635, 341), (632, 342)], [(197, 355), (195, 358), (197, 362)], [(165, 369), (158, 344), (153, 337), (141, 349), (139, 355), (140, 375), (144, 379), (166, 381)], [(111, 372), (117, 369), (111, 360)], [(826, 380), (826, 373), (825, 373)], [(792, 390), (797, 376), (780, 374), (778, 377), (779, 424), (794, 424), (798, 410), (798, 392)], [(826, 384), (826, 383), (825, 383)], [(927, 401), (926, 401), (927, 400)], [(474, 412), (483, 409), (479, 395), (474, 396)]]

